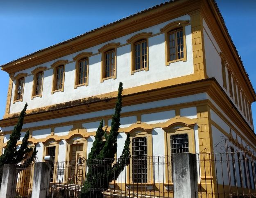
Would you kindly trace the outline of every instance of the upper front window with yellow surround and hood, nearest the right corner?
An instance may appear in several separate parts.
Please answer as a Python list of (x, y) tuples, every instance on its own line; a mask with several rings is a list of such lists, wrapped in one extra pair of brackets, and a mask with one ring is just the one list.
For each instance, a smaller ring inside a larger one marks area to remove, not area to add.
[(186, 34), (185, 26), (189, 20), (179, 20), (171, 22), (160, 31), (165, 33), (165, 64), (179, 60), (186, 61)]

